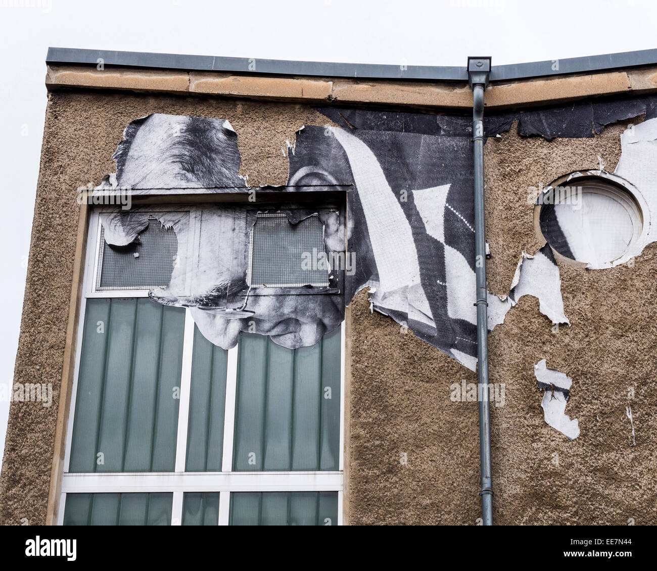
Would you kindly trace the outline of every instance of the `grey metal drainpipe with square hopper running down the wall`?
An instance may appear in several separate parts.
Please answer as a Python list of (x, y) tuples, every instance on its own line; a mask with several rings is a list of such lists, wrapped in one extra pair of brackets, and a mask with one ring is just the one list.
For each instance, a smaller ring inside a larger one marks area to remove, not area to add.
[(482, 490), (482, 520), (493, 525), (491, 478), (491, 429), (488, 400), (488, 301), (486, 284), (486, 224), (484, 222), (484, 89), (488, 84), (491, 58), (468, 58), (468, 83), (472, 87), (472, 141), (474, 142), (474, 242), (477, 288), (477, 359), (479, 400), (479, 449)]

